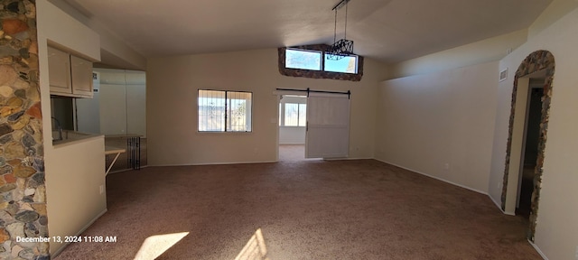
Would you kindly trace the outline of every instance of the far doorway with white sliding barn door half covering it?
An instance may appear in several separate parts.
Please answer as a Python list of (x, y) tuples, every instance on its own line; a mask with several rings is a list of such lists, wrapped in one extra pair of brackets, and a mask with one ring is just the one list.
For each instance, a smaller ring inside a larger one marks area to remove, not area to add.
[[(304, 144), (304, 154), (300, 149), (298, 157), (287, 160), (349, 157), (351, 91), (276, 90), (279, 97), (279, 144)], [(302, 96), (303, 92), (307, 96)], [(284, 161), (282, 153), (284, 151), (278, 151), (279, 161)]]

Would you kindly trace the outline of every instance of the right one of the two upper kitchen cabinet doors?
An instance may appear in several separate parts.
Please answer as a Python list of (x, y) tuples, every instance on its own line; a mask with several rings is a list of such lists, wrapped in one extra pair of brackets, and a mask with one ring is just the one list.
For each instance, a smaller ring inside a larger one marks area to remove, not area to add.
[(92, 98), (92, 62), (70, 55), (72, 94)]

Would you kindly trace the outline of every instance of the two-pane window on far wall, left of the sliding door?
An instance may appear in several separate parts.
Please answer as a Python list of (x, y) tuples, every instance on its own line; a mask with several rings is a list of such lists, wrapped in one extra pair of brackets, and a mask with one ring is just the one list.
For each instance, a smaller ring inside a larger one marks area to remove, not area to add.
[(253, 93), (199, 89), (199, 132), (251, 132)]

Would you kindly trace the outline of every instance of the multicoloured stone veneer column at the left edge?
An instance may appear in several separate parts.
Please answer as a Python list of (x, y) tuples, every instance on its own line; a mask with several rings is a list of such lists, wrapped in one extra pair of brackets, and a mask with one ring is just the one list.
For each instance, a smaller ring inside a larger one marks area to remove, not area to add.
[(35, 1), (0, 0), (0, 258), (50, 259)]

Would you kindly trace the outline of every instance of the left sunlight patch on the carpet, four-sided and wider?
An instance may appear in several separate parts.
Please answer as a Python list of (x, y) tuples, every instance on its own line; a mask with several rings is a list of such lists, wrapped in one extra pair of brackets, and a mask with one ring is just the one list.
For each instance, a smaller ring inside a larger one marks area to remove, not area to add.
[(153, 260), (159, 255), (163, 255), (171, 246), (177, 244), (183, 237), (187, 237), (189, 232), (172, 233), (146, 237), (143, 245), (135, 255), (135, 260)]

